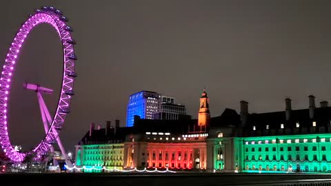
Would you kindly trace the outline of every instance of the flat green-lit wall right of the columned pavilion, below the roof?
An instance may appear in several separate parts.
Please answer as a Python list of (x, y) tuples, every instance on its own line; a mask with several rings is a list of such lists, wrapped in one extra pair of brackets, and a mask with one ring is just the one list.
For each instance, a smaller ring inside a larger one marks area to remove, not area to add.
[(331, 172), (331, 134), (243, 138), (243, 172)]

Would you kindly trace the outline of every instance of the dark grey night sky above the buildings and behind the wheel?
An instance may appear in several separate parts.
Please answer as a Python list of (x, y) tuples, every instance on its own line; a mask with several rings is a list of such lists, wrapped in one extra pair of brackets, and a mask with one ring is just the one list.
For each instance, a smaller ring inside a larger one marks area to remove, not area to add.
[[(312, 4), (314, 3), (314, 4)], [(212, 116), (225, 107), (250, 112), (308, 107), (308, 95), (331, 101), (330, 1), (1, 1), (0, 60), (14, 33), (40, 6), (63, 11), (77, 40), (72, 113), (61, 133), (67, 149), (92, 121), (126, 119), (128, 96), (152, 90), (197, 117), (203, 86)], [(28, 149), (43, 138), (37, 97), (24, 81), (55, 90), (61, 83), (61, 42), (48, 25), (27, 39), (10, 95), (10, 137)]]

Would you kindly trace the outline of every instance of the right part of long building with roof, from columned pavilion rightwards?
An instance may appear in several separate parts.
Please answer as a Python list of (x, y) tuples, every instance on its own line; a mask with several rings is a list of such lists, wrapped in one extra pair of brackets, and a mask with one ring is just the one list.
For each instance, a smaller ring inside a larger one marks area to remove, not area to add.
[[(323, 104), (322, 104), (323, 103)], [(331, 172), (331, 107), (249, 114), (225, 109), (212, 118), (207, 139), (208, 167), (221, 172)], [(212, 161), (210, 162), (210, 160)]]

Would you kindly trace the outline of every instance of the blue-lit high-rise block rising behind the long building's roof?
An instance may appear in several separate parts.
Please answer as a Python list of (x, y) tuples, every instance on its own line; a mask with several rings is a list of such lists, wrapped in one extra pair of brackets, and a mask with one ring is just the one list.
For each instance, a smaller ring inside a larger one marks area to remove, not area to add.
[(140, 116), (140, 118), (152, 119), (153, 114), (159, 112), (160, 103), (161, 94), (157, 92), (143, 90), (130, 95), (126, 113), (126, 126), (133, 126), (134, 115)]

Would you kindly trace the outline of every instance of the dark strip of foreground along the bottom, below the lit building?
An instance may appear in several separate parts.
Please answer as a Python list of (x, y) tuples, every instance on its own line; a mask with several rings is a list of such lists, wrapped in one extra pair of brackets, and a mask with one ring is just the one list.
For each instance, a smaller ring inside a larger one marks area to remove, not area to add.
[(0, 185), (70, 186), (195, 186), (195, 185), (272, 185), (272, 183), (330, 180), (331, 174), (0, 174)]

